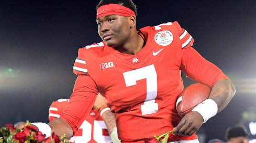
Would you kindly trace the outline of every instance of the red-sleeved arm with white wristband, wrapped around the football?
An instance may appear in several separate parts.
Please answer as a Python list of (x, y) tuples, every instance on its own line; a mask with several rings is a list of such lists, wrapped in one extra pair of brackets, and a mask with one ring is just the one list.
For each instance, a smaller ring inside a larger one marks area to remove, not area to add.
[(183, 49), (181, 70), (191, 79), (211, 88), (209, 98), (186, 114), (173, 129), (173, 134), (192, 135), (204, 122), (223, 110), (235, 95), (235, 86), (213, 63), (192, 48)]

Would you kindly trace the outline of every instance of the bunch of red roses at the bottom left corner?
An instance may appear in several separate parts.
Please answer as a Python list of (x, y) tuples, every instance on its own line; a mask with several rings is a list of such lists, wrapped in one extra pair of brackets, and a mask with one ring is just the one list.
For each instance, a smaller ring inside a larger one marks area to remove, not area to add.
[(50, 137), (45, 138), (37, 128), (28, 121), (23, 129), (14, 127), (12, 124), (6, 124), (0, 128), (0, 143), (68, 143), (70, 142), (64, 136), (57, 136), (54, 133)]

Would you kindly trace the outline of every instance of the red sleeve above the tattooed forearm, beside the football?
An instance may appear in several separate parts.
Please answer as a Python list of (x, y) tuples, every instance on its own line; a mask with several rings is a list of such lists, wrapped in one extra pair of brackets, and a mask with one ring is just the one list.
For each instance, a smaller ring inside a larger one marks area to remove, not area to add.
[(192, 47), (183, 49), (181, 70), (192, 80), (211, 88), (218, 80), (228, 79), (215, 64), (204, 59)]

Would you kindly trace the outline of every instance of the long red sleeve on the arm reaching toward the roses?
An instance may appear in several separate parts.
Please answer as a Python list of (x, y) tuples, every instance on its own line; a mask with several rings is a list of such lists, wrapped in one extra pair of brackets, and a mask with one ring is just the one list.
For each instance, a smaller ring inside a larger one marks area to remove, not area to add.
[(90, 76), (77, 76), (69, 103), (60, 116), (72, 127), (74, 134), (90, 113), (97, 94), (96, 84)]

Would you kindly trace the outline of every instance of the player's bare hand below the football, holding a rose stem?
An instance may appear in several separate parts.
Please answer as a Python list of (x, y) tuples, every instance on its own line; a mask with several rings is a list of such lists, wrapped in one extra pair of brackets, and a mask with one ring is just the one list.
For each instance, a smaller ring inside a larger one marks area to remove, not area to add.
[(187, 113), (181, 122), (173, 128), (173, 134), (191, 136), (202, 126), (203, 122), (204, 119), (201, 114), (192, 111)]

